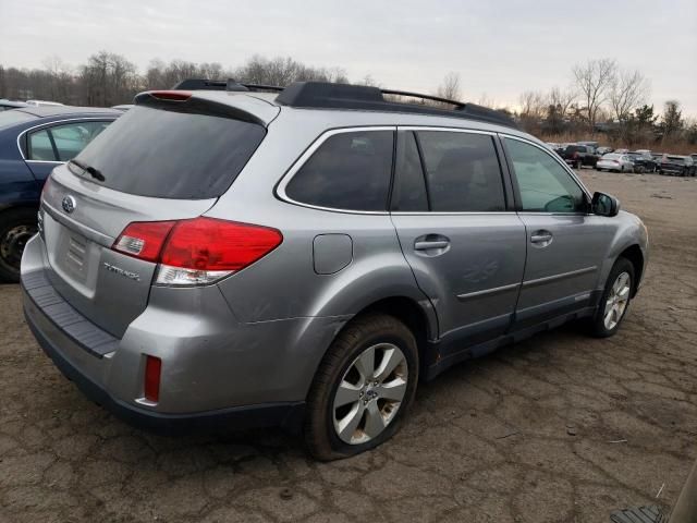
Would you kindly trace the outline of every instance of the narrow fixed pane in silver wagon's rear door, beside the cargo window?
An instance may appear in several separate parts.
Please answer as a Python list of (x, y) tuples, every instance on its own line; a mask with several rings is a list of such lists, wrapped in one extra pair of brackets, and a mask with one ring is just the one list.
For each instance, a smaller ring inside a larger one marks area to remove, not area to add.
[(418, 156), (414, 133), (400, 133), (396, 150), (392, 210), (428, 210), (424, 171), (421, 170), (421, 160)]

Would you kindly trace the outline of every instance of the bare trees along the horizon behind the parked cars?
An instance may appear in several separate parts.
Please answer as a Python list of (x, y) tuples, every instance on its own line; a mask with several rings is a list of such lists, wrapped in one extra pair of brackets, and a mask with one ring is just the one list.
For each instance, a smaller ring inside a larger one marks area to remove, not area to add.
[[(125, 57), (99, 51), (85, 64), (72, 68), (60, 58), (44, 61), (40, 69), (0, 64), (0, 98), (46, 99), (74, 106), (109, 107), (132, 101), (147, 89), (167, 89), (184, 78), (235, 78), (239, 82), (288, 85), (296, 81), (348, 83), (340, 68), (309, 66), (292, 58), (255, 56), (236, 68), (218, 62), (152, 60), (144, 73)], [(378, 85), (371, 76), (354, 82)], [(457, 73), (448, 73), (436, 95), (461, 100)], [(669, 100), (659, 113), (650, 98), (650, 82), (638, 70), (626, 70), (615, 60), (591, 59), (570, 71), (565, 87), (523, 93), (515, 108), (498, 109), (513, 115), (526, 131), (542, 137), (574, 137), (606, 133), (626, 145), (660, 142), (697, 144), (697, 122), (683, 117), (681, 105)], [(493, 106), (486, 95), (477, 100)]]

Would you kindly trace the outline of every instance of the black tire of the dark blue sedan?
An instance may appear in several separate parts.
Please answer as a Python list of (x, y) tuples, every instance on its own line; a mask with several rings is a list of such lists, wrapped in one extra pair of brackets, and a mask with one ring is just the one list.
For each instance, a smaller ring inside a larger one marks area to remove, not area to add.
[(37, 230), (36, 209), (22, 207), (0, 214), (0, 280), (20, 281), (24, 245)]

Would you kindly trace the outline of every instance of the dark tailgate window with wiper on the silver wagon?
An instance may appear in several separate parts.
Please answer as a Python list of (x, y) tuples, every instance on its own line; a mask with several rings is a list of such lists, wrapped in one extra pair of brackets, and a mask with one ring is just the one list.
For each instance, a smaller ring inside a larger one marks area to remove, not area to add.
[(265, 134), (261, 125), (231, 118), (134, 107), (75, 159), (102, 174), (98, 183), (123, 193), (215, 198), (230, 187)]

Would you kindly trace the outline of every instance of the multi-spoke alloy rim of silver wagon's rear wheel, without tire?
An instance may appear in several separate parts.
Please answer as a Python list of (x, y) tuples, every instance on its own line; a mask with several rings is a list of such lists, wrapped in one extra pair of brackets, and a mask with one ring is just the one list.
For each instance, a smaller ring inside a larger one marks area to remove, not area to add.
[(408, 380), (406, 357), (392, 343), (364, 350), (348, 366), (332, 402), (334, 430), (348, 445), (378, 437), (394, 419)]

